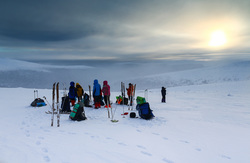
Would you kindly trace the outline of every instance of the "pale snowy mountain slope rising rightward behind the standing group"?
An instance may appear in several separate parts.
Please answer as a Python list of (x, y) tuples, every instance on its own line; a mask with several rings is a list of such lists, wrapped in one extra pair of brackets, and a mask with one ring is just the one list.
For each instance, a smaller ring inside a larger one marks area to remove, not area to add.
[(149, 75), (127, 80), (125, 83), (140, 83), (138, 89), (146, 89), (156, 86), (177, 87), (243, 80), (250, 80), (250, 61)]

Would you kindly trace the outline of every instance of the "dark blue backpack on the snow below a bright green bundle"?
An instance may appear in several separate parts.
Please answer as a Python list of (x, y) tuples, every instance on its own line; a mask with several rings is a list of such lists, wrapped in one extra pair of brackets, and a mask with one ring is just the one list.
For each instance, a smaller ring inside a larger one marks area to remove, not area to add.
[(154, 117), (153, 113), (152, 113), (152, 110), (150, 109), (150, 106), (149, 106), (149, 103), (146, 102), (146, 103), (143, 103), (143, 104), (138, 104), (136, 106), (136, 109), (138, 110), (138, 113), (139, 113), (139, 116), (142, 118), (142, 119), (151, 119)]

